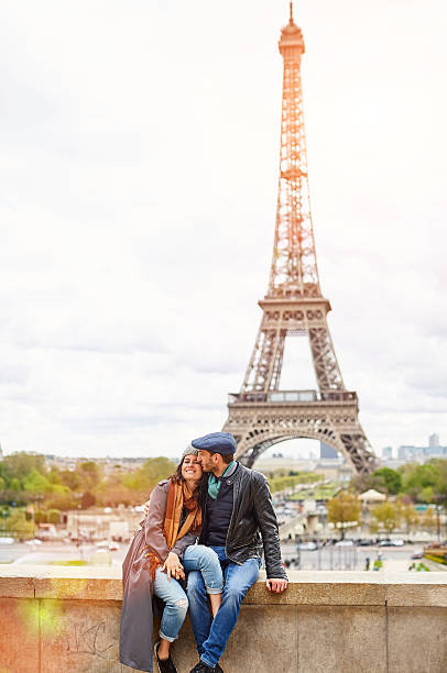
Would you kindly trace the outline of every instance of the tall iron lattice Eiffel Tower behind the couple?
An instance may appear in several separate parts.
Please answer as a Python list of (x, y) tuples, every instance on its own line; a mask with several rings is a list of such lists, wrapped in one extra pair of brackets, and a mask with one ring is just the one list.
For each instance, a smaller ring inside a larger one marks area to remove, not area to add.
[[(307, 179), (301, 59), (304, 41), (293, 19), (281, 32), (284, 59), (280, 178), (273, 260), (262, 320), (239, 394), (229, 395), (224, 430), (237, 441), (236, 456), (252, 466), (266, 449), (310, 438), (340, 452), (358, 474), (377, 459), (358, 420), (357, 393), (347, 390), (330, 338), (330, 304), (319, 287)], [(307, 335), (317, 390), (282, 390), (286, 336)]]

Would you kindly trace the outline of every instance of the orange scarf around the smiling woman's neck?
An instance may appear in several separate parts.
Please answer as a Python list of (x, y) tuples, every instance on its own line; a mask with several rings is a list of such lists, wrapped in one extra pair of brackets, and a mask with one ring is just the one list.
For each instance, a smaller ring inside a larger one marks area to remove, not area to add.
[[(185, 519), (184, 525), (178, 530), (182, 510), (188, 510), (188, 515)], [(197, 497), (190, 490), (186, 482), (170, 481), (167, 487), (167, 503), (166, 514), (164, 517), (163, 534), (166, 539), (168, 549), (172, 549), (177, 540), (186, 536), (187, 532), (200, 532), (201, 529), (201, 509), (198, 505)], [(146, 548), (148, 549), (148, 548)], [(145, 554), (145, 559), (149, 559), (149, 571), (152, 580), (155, 580), (155, 572), (159, 566), (162, 565), (162, 560), (153, 551)]]

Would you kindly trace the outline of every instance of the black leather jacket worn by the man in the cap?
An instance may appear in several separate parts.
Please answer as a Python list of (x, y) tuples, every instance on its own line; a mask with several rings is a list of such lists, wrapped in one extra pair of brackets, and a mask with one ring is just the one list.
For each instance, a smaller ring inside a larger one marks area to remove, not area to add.
[[(241, 565), (247, 559), (260, 559), (263, 549), (266, 576), (286, 580), (269, 482), (263, 474), (241, 463), (226, 482), (233, 484), (232, 515), (225, 545), (228, 559)], [(206, 525), (206, 506), (204, 522)], [(204, 543), (201, 537), (199, 543)]]

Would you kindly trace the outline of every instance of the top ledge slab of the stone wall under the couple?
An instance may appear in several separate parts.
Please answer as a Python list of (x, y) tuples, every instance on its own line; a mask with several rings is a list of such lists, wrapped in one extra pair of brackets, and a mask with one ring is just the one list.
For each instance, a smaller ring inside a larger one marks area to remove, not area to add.
[[(265, 574), (246, 605), (447, 607), (445, 573), (291, 572), (284, 594), (266, 592)], [(0, 596), (121, 600), (119, 566), (7, 565), (0, 567)]]

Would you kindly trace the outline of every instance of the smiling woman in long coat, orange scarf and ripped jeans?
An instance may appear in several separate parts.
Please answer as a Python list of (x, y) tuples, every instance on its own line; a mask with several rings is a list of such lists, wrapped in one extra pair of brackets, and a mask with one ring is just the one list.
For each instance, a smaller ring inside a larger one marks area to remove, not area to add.
[(152, 492), (148, 515), (124, 559), (120, 661), (133, 669), (153, 670), (152, 597), (155, 595), (165, 603), (160, 642), (155, 646), (159, 671), (176, 673), (170, 648), (178, 637), (188, 608), (178, 582), (185, 578), (185, 570), (201, 572), (212, 615), (219, 609), (224, 586), (219, 560), (214, 550), (195, 544), (201, 527), (198, 501), (201, 477), (197, 450), (187, 446), (176, 472)]

